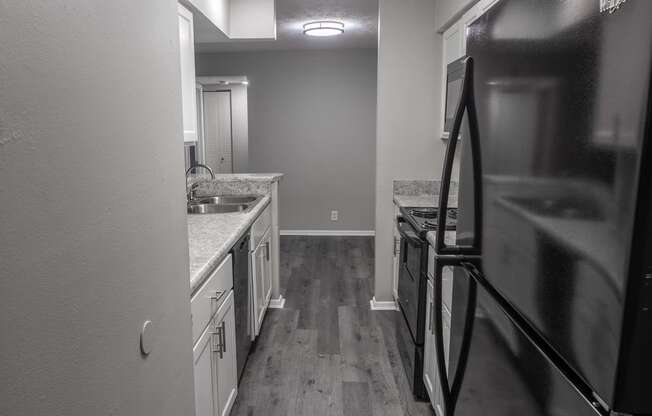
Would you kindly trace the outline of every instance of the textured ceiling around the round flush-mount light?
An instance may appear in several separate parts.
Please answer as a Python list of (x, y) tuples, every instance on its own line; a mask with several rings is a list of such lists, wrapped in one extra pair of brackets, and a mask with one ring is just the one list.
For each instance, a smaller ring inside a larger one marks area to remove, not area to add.
[[(339, 20), (344, 34), (315, 38), (303, 34), (312, 20)], [(198, 53), (291, 49), (375, 48), (378, 0), (276, 0), (275, 41), (197, 42)], [(197, 35), (195, 38), (198, 39)], [(205, 37), (199, 37), (204, 39)]]

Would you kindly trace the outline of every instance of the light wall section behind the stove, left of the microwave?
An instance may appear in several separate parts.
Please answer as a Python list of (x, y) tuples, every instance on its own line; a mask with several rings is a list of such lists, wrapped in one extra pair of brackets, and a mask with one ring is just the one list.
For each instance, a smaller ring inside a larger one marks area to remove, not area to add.
[(441, 177), (441, 36), (431, 0), (379, 1), (376, 142), (378, 301), (392, 300), (394, 179)]

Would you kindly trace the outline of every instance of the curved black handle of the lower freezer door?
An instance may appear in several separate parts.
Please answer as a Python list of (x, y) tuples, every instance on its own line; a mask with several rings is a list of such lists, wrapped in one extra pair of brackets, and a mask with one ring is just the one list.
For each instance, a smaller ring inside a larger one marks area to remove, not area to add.
[[(471, 338), (473, 335), (473, 324), (475, 322), (475, 309), (477, 304), (477, 283), (470, 275), (469, 295), (466, 303), (464, 317), (464, 327), (462, 329), (462, 343), (460, 345), (459, 357), (457, 359), (457, 368), (455, 374), (450, 377), (447, 371), (446, 355), (444, 352), (444, 325), (442, 315), (442, 276), (444, 267), (447, 265), (461, 266), (467, 273), (470, 273), (469, 267), (475, 266), (465, 261), (457, 262), (446, 261), (435, 264), (435, 293), (434, 293), (434, 321), (435, 321), (435, 354), (437, 356), (437, 373), (442, 390), (444, 405), (444, 416), (453, 416), (455, 414), (455, 405), (462, 389), (462, 382), (466, 373), (466, 364), (471, 348)], [(450, 358), (450, 356), (449, 356)]]

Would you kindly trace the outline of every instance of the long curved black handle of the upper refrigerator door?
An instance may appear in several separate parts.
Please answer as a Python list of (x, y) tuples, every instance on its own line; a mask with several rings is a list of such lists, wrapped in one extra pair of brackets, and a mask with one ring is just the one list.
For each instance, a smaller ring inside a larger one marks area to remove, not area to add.
[[(445, 232), (438, 232), (435, 244), (437, 254), (453, 255), (479, 255), (482, 242), (482, 166), (480, 157), (480, 138), (478, 132), (478, 118), (475, 109), (475, 95), (473, 88), (473, 58), (467, 57), (464, 60), (464, 78), (462, 79), (462, 92), (460, 94), (453, 129), (448, 138), (446, 146), (446, 157), (441, 175), (441, 188), (439, 191), (439, 211), (446, 212), (448, 208), (448, 196), (450, 194), (450, 181), (453, 173), (453, 162), (455, 160), (455, 149), (459, 140), (462, 119), (466, 111), (469, 121), (469, 141), (471, 144), (471, 156), (473, 160), (473, 196), (474, 196), (474, 237), (471, 246), (447, 246), (444, 242)], [(437, 229), (446, 229), (446, 215), (440, 215), (437, 219)]]

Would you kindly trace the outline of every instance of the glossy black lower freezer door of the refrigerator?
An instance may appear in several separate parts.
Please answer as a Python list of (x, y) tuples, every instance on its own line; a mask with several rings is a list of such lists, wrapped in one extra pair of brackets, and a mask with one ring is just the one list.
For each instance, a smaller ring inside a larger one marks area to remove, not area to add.
[[(455, 268), (449, 374), (460, 363), (470, 275)], [(477, 286), (473, 330), (453, 412), (440, 416), (598, 416), (600, 413)], [(428, 364), (426, 363), (426, 366)]]

